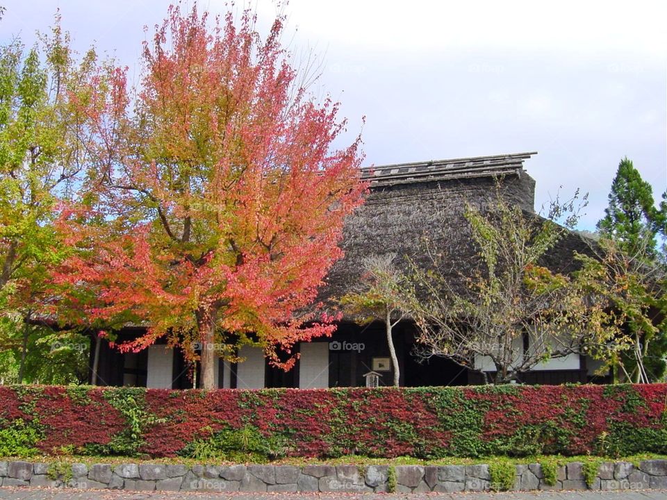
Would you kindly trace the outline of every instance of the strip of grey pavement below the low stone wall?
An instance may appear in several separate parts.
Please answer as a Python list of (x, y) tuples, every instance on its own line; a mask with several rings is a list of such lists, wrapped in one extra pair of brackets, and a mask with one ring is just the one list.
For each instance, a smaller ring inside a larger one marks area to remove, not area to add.
[(0, 487), (0, 500), (666, 500), (667, 490), (625, 492), (507, 492), (419, 494), (138, 493), (108, 490), (49, 490)]

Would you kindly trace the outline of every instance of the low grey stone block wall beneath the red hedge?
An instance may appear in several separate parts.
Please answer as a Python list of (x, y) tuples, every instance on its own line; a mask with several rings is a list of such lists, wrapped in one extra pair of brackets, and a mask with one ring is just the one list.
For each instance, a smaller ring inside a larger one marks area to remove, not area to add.
[[(391, 469), (391, 470), (390, 470)], [(135, 491), (461, 492), (500, 489), (488, 465), (122, 465), (0, 462), (1, 486)], [(513, 490), (645, 490), (667, 488), (667, 460), (604, 462), (589, 488), (582, 463), (570, 462), (547, 485), (539, 464), (517, 465)]]

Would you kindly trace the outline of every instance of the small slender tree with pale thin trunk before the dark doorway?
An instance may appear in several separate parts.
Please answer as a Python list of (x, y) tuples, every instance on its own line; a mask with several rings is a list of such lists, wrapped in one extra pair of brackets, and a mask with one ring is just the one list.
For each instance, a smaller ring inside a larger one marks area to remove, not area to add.
[(397, 266), (395, 253), (368, 256), (363, 260), (359, 283), (350, 284), (351, 292), (340, 298), (347, 314), (363, 323), (384, 323), (393, 369), (393, 384), (400, 385), (400, 366), (393, 340), (393, 328), (411, 318), (416, 297), (411, 278)]

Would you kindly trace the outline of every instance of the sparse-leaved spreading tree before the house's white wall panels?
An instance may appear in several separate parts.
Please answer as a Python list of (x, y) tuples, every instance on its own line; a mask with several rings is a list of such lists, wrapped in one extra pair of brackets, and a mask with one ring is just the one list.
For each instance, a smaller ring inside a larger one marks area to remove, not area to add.
[[(509, 205), (500, 192), (484, 213), (468, 206), (465, 217), (479, 256), (473, 275), (443, 276), (439, 261), (427, 271), (415, 267), (424, 297), (415, 315), (418, 355), (448, 358), (485, 380), (491, 373), (493, 382), (507, 383), (546, 360), (579, 353), (588, 336), (607, 335), (604, 328), (586, 326), (593, 311), (570, 276), (541, 264), (566, 235), (551, 218), (565, 217), (571, 226), (575, 204), (554, 203), (547, 218)], [(595, 313), (603, 314), (601, 308)]]

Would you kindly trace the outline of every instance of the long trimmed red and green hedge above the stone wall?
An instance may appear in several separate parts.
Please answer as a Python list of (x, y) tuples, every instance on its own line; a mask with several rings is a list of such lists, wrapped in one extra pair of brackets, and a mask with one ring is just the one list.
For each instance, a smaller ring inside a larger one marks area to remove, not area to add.
[(0, 387), (0, 456), (266, 460), (667, 453), (667, 384)]

